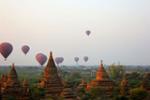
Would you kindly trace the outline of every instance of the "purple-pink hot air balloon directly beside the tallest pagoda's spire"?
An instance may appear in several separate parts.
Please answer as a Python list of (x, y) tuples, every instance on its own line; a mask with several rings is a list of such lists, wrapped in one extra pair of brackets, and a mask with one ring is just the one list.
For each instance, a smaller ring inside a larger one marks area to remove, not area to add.
[(44, 55), (43, 53), (36, 54), (35, 58), (41, 66), (44, 65), (45, 62), (47, 61), (47, 56)]

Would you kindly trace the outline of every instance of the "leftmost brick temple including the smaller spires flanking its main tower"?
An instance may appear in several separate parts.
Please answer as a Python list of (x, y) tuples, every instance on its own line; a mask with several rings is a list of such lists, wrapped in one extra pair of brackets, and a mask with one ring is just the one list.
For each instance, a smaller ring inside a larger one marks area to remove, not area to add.
[(30, 100), (29, 87), (19, 81), (14, 64), (7, 75), (2, 75), (0, 85), (0, 100)]

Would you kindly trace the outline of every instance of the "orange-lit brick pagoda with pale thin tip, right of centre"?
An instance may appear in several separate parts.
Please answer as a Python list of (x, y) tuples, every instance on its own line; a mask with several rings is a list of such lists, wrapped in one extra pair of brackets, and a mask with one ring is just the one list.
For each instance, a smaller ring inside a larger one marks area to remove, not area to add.
[(97, 70), (96, 79), (92, 80), (88, 85), (87, 89), (91, 88), (101, 88), (106, 91), (106, 95), (111, 95), (113, 90), (113, 81), (110, 80), (105, 68), (103, 67), (103, 61)]

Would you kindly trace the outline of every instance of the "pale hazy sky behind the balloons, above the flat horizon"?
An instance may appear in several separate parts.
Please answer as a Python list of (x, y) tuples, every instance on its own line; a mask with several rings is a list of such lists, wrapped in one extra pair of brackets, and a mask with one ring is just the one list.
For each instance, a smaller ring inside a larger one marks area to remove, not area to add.
[[(85, 35), (91, 30), (90, 37)], [(88, 64), (150, 64), (150, 0), (0, 0), (0, 42), (14, 46), (0, 64), (38, 65), (35, 54), (90, 57)], [(27, 56), (20, 48), (31, 47)]]

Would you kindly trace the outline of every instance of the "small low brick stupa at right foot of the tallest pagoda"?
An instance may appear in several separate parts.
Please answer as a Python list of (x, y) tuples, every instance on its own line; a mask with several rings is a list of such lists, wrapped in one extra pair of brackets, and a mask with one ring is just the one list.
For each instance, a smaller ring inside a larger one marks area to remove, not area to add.
[(72, 87), (70, 86), (69, 82), (65, 82), (64, 89), (61, 93), (61, 97), (64, 100), (77, 100), (77, 97), (76, 97)]

